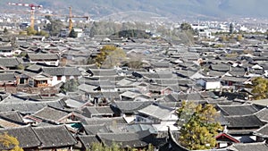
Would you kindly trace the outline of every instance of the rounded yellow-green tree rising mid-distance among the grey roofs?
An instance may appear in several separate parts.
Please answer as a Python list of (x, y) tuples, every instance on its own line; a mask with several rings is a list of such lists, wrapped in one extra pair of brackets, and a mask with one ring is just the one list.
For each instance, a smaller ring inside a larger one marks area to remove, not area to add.
[(95, 58), (95, 62), (98, 67), (111, 68), (114, 65), (119, 65), (125, 57), (126, 54), (121, 48), (106, 45), (100, 49), (99, 54)]

